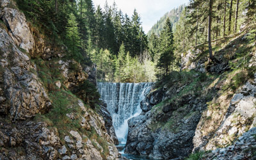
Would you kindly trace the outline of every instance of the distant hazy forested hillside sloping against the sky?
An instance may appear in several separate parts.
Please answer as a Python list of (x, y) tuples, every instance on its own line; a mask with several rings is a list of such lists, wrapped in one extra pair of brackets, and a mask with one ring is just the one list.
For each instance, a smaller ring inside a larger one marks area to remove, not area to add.
[(161, 31), (164, 28), (164, 23), (165, 23), (166, 19), (168, 19), (168, 18), (170, 18), (173, 26), (175, 26), (176, 22), (178, 22), (178, 20), (180, 18), (180, 14), (182, 13), (182, 10), (184, 10), (184, 8), (185, 8), (185, 6), (186, 6), (186, 4), (182, 4), (178, 8), (174, 8), (170, 12), (165, 13), (163, 15), (163, 17), (161, 17), (160, 20), (157, 20), (157, 23), (154, 24), (154, 26), (152, 26), (152, 28), (148, 31), (148, 34), (147, 34), (148, 37), (150, 37), (153, 33), (155, 35), (159, 36)]

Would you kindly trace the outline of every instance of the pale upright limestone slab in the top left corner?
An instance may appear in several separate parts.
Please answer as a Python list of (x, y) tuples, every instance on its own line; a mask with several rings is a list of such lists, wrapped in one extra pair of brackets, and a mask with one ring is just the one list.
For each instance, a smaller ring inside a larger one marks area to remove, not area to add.
[(14, 8), (9, 8), (8, 6), (10, 4), (14, 4), (10, 0), (4, 0), (0, 3), (0, 17), (8, 27), (15, 44), (20, 48), (25, 49), (27, 52), (33, 52), (35, 40), (26, 22), (24, 13), (19, 12)]

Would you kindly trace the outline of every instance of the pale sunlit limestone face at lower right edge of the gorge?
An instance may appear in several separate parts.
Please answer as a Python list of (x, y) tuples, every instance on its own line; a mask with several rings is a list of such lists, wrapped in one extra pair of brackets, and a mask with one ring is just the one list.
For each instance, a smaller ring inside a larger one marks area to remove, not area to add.
[(194, 150), (215, 150), (216, 146), (225, 146), (234, 141), (237, 136), (241, 136), (244, 132), (252, 127), (256, 127), (256, 74), (253, 81), (248, 81), (232, 98), (230, 105), (221, 120), (221, 123), (212, 135), (204, 134), (204, 115), (197, 126), (193, 142)]

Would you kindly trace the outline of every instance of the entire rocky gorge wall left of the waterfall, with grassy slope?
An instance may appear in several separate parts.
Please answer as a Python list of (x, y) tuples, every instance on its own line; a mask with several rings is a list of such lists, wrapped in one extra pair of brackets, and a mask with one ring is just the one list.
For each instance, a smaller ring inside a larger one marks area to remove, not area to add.
[(63, 59), (15, 2), (0, 0), (0, 19), (0, 159), (119, 159), (106, 106), (71, 92), (95, 68)]

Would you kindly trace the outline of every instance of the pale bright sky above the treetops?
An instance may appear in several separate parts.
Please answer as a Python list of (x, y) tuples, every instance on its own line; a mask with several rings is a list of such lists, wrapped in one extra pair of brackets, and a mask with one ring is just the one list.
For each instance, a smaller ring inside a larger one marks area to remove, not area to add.
[[(92, 0), (95, 6), (100, 5), (104, 8), (106, 0)], [(181, 4), (187, 4), (189, 0), (107, 0), (108, 4), (116, 3), (118, 9), (129, 17), (136, 8), (141, 16), (142, 27), (147, 33), (157, 20), (159, 20), (165, 13), (173, 8), (177, 8)]]

